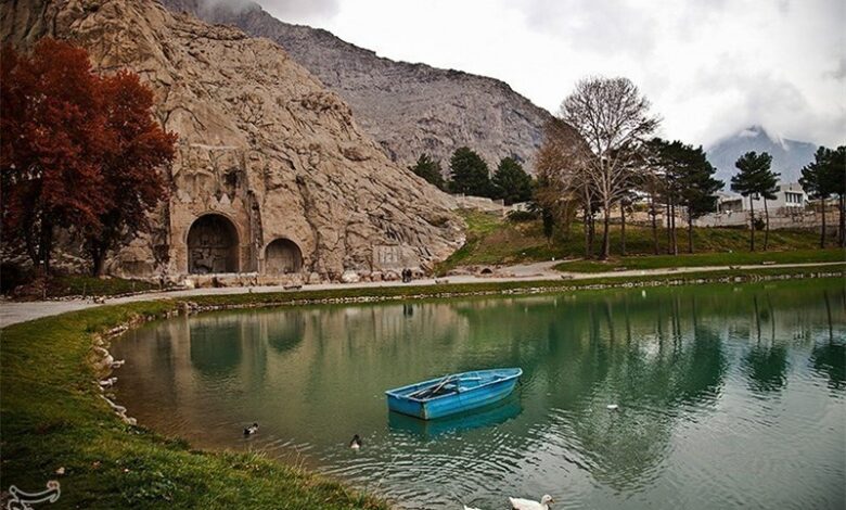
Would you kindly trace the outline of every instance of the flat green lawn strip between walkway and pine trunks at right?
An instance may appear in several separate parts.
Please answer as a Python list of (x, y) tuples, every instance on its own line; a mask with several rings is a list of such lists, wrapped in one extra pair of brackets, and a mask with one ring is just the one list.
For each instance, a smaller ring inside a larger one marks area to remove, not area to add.
[(834, 250), (797, 250), (791, 252), (732, 252), (672, 255), (632, 256), (610, 260), (573, 260), (555, 266), (559, 271), (604, 272), (623, 269), (659, 269), (668, 267), (748, 266), (772, 262), (776, 264), (846, 262), (846, 253)]

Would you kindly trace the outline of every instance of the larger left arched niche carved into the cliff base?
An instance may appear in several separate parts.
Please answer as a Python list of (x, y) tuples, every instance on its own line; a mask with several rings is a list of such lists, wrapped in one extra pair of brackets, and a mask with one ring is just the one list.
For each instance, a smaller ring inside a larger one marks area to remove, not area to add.
[(188, 231), (188, 272), (239, 272), (238, 230), (219, 214), (198, 217)]

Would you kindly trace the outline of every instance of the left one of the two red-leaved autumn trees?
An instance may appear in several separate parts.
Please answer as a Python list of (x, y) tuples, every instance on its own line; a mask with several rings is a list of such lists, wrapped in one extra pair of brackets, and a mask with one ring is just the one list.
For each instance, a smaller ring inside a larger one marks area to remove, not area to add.
[(0, 59), (4, 242), (21, 241), (50, 271), (59, 228), (97, 228), (104, 206), (100, 78), (87, 53), (43, 39), (31, 54)]

